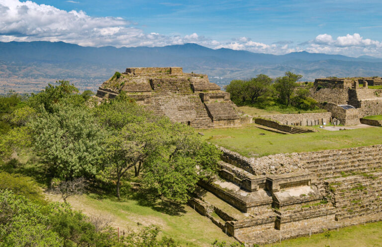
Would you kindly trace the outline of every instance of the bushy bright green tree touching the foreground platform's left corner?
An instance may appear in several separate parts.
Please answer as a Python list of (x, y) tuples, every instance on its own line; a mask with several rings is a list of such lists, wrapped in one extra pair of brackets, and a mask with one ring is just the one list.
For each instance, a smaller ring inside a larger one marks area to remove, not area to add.
[(184, 124), (163, 130), (161, 144), (145, 162), (143, 181), (160, 197), (185, 203), (196, 183), (216, 171), (220, 152)]

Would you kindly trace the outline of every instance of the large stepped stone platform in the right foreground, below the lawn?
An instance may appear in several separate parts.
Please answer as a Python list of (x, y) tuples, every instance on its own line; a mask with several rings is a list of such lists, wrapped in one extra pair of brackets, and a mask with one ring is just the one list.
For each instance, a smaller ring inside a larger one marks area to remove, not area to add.
[(382, 145), (246, 158), (221, 148), (219, 176), (191, 206), (242, 243), (382, 220)]

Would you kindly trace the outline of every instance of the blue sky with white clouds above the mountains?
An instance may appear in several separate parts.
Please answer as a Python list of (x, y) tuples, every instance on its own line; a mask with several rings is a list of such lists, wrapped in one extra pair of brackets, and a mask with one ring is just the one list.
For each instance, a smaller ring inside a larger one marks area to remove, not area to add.
[(1, 22), (1, 41), (116, 47), (192, 42), (272, 54), (382, 57), (377, 0), (0, 0)]

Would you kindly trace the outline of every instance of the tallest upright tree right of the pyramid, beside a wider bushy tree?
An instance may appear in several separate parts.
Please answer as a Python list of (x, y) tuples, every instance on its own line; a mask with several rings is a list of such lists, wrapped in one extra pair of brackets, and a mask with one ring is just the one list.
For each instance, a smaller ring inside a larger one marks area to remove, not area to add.
[(276, 78), (274, 87), (279, 94), (280, 101), (286, 106), (289, 106), (294, 89), (298, 86), (296, 81), (301, 78), (302, 75), (289, 71), (285, 73), (285, 76)]

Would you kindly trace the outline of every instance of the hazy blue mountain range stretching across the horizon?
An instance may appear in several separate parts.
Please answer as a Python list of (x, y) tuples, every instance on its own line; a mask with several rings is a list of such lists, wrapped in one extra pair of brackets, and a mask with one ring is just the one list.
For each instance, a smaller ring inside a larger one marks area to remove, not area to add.
[(210, 49), (197, 44), (164, 47), (82, 47), (64, 42), (0, 42), (0, 93), (13, 89), (37, 92), (49, 82), (65, 79), (81, 90), (95, 90), (114, 71), (126, 67), (180, 66), (207, 74), (220, 86), (232, 79), (263, 73), (271, 77), (286, 71), (302, 74), (304, 81), (326, 76), (381, 76), (382, 59), (295, 52), (271, 55)]

